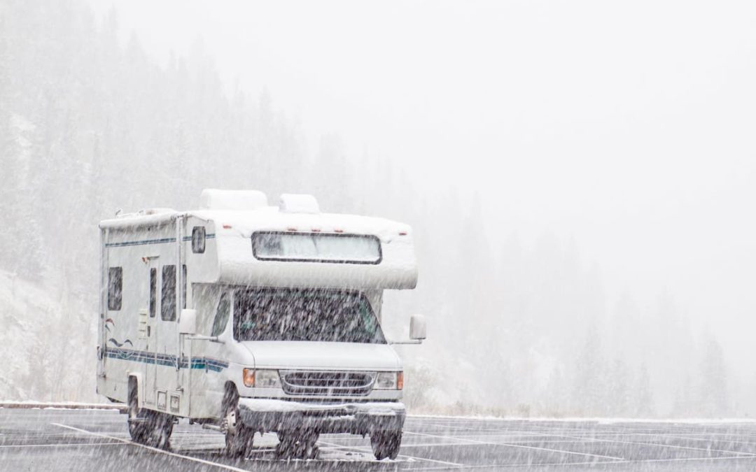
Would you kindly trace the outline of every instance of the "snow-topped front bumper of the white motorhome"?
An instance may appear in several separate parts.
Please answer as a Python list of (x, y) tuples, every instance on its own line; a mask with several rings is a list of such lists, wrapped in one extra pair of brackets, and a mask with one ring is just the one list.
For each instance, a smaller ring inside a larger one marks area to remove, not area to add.
[(240, 398), (239, 415), (256, 432), (311, 430), (317, 433), (370, 434), (401, 430), (407, 415), (400, 402), (299, 403)]

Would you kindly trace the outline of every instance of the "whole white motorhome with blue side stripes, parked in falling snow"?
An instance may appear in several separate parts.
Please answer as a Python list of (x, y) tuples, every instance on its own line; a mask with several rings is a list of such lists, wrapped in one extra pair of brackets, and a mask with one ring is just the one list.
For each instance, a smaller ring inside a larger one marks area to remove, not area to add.
[[(325, 214), (305, 195), (204, 190), (200, 210), (102, 221), (98, 393), (129, 406), (133, 440), (167, 447), (176, 418), (254, 433), (311, 458), (320, 433), (401, 442), (401, 359), (381, 329), (386, 289), (414, 288), (412, 232)], [(422, 316), (411, 318), (415, 341)]]

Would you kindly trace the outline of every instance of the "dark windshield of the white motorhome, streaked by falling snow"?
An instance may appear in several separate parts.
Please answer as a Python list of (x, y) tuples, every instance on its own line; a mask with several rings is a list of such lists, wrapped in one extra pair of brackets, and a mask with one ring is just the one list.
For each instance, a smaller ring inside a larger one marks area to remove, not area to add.
[(326, 289), (240, 288), (234, 292), (238, 341), (385, 344), (364, 295)]

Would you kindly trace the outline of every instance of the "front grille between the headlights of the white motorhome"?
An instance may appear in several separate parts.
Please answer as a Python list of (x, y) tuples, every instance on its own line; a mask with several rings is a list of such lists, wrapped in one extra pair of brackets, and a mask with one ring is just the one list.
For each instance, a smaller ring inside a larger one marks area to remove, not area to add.
[(375, 372), (280, 372), (283, 391), (290, 395), (360, 396), (370, 393)]

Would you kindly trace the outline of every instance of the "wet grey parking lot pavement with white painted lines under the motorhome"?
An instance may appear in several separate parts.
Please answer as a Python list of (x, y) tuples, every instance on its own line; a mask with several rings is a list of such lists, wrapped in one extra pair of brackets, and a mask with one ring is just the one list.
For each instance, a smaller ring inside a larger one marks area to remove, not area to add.
[(756, 470), (756, 422), (550, 421), (411, 417), (396, 461), (367, 439), (324, 435), (313, 461), (222, 455), (223, 437), (186, 423), (172, 449), (131, 443), (107, 410), (0, 409), (0, 470)]

